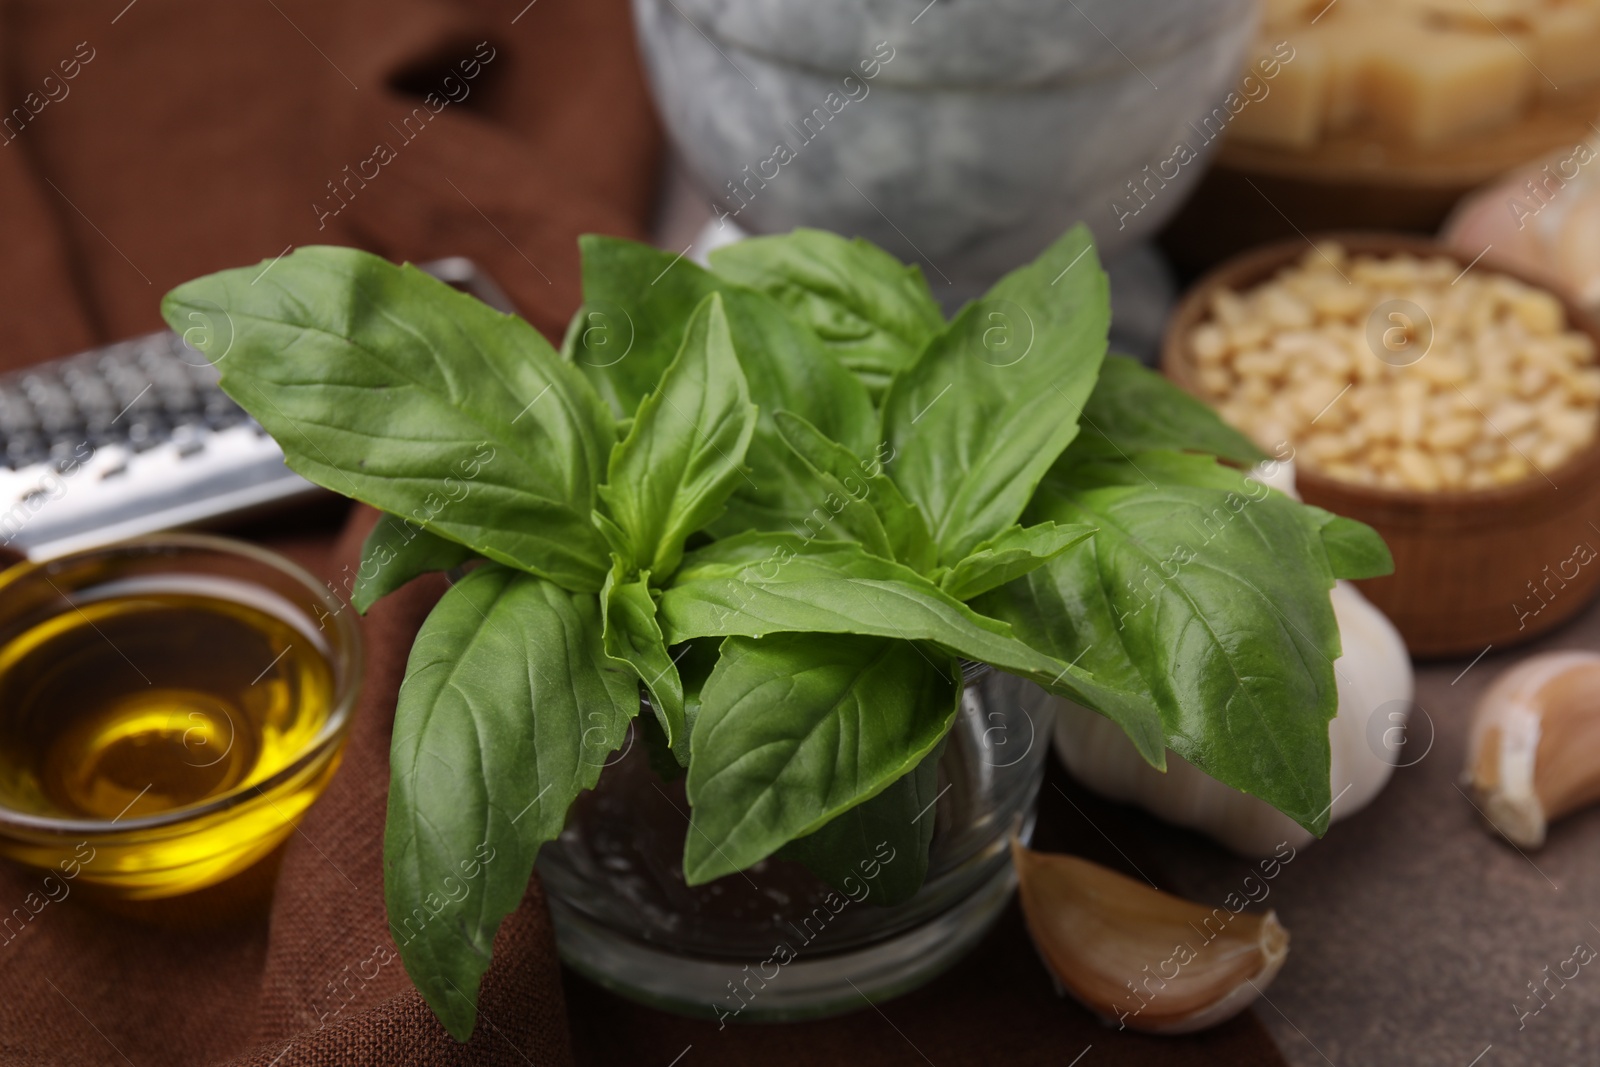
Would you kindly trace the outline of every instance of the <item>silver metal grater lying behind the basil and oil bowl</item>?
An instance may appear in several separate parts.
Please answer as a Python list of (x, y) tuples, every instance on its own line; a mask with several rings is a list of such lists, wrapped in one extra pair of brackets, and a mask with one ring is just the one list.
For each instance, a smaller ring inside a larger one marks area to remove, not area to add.
[[(469, 259), (419, 267), (512, 310)], [(32, 560), (317, 493), (171, 331), (0, 376), (0, 545)]]

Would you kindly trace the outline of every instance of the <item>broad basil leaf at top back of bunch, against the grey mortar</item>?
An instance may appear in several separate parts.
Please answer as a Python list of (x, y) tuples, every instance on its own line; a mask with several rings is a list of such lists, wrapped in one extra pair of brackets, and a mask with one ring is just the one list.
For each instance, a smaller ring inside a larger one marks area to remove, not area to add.
[(710, 266), (789, 309), (874, 392), (944, 328), (922, 270), (859, 237), (808, 229), (750, 237), (715, 250)]

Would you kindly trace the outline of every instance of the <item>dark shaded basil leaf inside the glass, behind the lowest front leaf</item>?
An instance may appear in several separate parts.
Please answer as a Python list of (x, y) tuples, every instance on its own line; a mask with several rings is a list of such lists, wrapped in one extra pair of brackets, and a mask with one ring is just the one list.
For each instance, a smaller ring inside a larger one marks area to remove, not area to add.
[(928, 878), (942, 752), (941, 741), (915, 769), (822, 829), (789, 841), (778, 857), (803, 864), (854, 901), (893, 907), (912, 899)]

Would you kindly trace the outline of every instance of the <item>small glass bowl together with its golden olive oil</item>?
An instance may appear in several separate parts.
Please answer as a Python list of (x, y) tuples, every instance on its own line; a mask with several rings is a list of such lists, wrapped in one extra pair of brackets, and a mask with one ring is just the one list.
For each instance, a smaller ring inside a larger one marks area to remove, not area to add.
[(0, 574), (0, 853), (138, 899), (237, 873), (333, 774), (358, 667), (349, 611), (253, 545)]

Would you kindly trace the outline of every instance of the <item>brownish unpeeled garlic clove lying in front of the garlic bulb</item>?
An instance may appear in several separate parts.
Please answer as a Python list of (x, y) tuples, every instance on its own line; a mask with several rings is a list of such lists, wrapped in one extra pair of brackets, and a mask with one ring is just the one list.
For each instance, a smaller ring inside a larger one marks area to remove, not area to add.
[(1011, 841), (1029, 934), (1074, 1000), (1118, 1029), (1192, 1033), (1261, 995), (1290, 950), (1274, 912), (1206, 909)]

